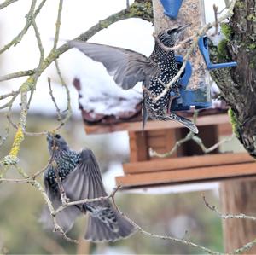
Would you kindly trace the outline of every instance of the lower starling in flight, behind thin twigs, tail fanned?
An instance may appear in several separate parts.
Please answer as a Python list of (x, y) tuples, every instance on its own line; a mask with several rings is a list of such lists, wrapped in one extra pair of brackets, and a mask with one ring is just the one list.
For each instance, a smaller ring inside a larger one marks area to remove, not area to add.
[[(55, 209), (61, 206), (61, 191), (56, 176), (59, 176), (70, 201), (107, 196), (99, 165), (90, 149), (77, 153), (59, 134), (49, 133), (47, 141), (52, 163), (44, 172), (44, 187)], [(75, 219), (86, 212), (89, 218), (84, 238), (87, 241), (117, 241), (136, 230), (113, 208), (110, 200), (67, 206), (56, 215), (56, 221), (67, 232), (73, 227)], [(48, 229), (53, 227), (48, 208), (44, 208), (40, 221)]]

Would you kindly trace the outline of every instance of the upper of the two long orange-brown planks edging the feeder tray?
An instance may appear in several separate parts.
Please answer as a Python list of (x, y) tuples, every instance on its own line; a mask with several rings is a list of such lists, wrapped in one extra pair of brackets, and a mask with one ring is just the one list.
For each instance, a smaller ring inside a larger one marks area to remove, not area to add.
[(253, 159), (247, 153), (207, 154), (201, 156), (180, 157), (175, 159), (159, 159), (154, 161), (127, 163), (123, 164), (123, 167), (126, 174), (136, 174), (143, 172), (180, 170), (201, 166), (231, 165), (249, 162), (255, 162), (255, 159)]

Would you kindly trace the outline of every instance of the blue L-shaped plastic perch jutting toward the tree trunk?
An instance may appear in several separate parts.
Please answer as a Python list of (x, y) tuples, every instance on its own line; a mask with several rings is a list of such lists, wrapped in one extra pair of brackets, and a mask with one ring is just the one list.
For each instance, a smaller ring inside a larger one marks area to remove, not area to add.
[(212, 64), (212, 62), (210, 60), (210, 56), (209, 56), (207, 36), (199, 38), (198, 47), (201, 51), (201, 55), (203, 56), (208, 69), (216, 69), (216, 68), (224, 68), (224, 67), (236, 67), (237, 66), (236, 62)]

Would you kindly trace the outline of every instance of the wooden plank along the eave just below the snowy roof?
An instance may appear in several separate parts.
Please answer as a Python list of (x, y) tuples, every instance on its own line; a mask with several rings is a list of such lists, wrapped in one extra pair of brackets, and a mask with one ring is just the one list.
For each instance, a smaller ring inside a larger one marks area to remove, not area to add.
[[(230, 122), (228, 114), (215, 114), (198, 117), (196, 125), (224, 125)], [(145, 126), (145, 130), (165, 130), (183, 128), (177, 121), (156, 121), (150, 120)], [(86, 134), (102, 134), (116, 131), (140, 131), (142, 122), (122, 122), (113, 125), (85, 125)]]

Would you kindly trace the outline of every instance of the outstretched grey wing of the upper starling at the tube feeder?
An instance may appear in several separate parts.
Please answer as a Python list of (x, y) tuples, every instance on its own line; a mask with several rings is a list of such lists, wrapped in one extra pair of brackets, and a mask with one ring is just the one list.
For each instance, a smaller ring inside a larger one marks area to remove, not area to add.
[(70, 41), (69, 45), (79, 49), (92, 60), (102, 62), (115, 83), (124, 90), (129, 90), (137, 82), (145, 80), (148, 76), (154, 77), (160, 72), (157, 63), (130, 49), (81, 41)]

